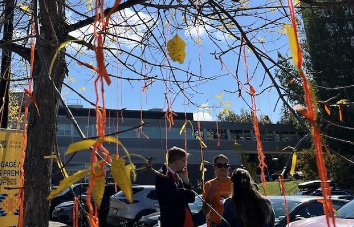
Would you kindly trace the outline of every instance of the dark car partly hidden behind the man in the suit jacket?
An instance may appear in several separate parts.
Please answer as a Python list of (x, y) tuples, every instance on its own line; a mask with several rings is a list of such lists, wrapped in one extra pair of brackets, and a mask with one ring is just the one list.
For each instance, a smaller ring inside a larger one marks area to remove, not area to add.
[[(202, 195), (200, 195), (202, 196)], [(206, 222), (205, 215), (202, 211), (202, 200), (196, 196), (194, 203), (189, 203), (189, 208), (192, 212), (192, 218), (195, 226), (202, 225)], [(143, 216), (137, 223), (137, 227), (153, 227), (158, 223), (160, 212), (152, 213), (147, 216)]]

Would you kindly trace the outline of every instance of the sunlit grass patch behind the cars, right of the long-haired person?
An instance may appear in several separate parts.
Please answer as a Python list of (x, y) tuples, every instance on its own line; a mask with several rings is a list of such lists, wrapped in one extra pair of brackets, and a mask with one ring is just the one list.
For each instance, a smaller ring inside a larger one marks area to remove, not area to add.
[[(286, 195), (294, 195), (299, 191), (297, 185), (302, 183), (303, 181), (288, 181), (284, 182)], [(259, 190), (258, 192), (264, 195), (264, 190), (262, 188), (262, 184), (258, 184)], [(280, 185), (277, 181), (267, 182), (267, 185), (264, 186), (265, 195), (280, 195)]]

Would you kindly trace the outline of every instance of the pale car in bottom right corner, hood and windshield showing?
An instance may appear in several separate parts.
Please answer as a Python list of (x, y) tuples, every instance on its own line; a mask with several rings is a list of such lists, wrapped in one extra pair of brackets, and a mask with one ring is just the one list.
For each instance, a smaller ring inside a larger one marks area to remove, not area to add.
[[(335, 216), (337, 227), (354, 226), (354, 200), (338, 209), (339, 215)], [(330, 219), (331, 220), (331, 219)], [(290, 223), (290, 227), (322, 227), (327, 226), (325, 215), (298, 220)]]

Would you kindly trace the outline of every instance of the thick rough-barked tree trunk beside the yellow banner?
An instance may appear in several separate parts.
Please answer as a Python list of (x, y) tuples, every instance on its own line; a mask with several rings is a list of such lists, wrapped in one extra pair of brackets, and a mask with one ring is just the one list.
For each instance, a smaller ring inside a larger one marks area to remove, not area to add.
[[(51, 159), (44, 156), (57, 152), (57, 115), (58, 98), (48, 77), (48, 68), (58, 43), (64, 41), (65, 11), (64, 0), (39, 1), (40, 35), (45, 41), (36, 40), (33, 66), (33, 96), (37, 101), (39, 115), (33, 104), (29, 106), (28, 138), (25, 157), (24, 185), (24, 226), (48, 226), (49, 201), (46, 197), (52, 185)], [(51, 25), (51, 23), (53, 26)], [(45, 70), (47, 69), (47, 70)], [(64, 54), (58, 54), (54, 64), (52, 78), (59, 91), (66, 74)]]

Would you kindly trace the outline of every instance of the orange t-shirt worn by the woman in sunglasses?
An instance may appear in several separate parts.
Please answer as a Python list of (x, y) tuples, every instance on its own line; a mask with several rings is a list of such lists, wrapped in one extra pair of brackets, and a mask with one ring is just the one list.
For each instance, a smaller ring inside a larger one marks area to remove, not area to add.
[[(226, 182), (224, 183), (220, 183), (216, 180), (216, 178), (206, 182), (204, 184), (204, 189), (203, 189), (203, 199), (206, 200), (209, 190), (211, 188), (212, 185), (217, 184), (219, 186), (219, 189), (215, 192), (214, 196), (211, 197), (210, 199), (210, 205), (212, 206), (212, 208), (214, 208), (220, 215), (223, 216), (223, 212), (224, 212), (224, 204), (223, 204), (223, 200), (226, 198), (229, 198), (230, 196), (232, 196), (232, 191), (233, 191), (233, 187), (232, 187), (232, 181), (231, 178), (229, 178)], [(214, 223), (220, 223), (220, 217), (214, 212), (214, 211), (210, 211), (210, 217), (207, 220), (207, 225), (210, 226), (210, 221), (214, 222)]]

